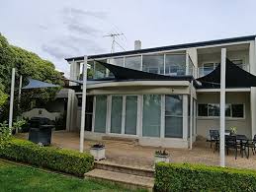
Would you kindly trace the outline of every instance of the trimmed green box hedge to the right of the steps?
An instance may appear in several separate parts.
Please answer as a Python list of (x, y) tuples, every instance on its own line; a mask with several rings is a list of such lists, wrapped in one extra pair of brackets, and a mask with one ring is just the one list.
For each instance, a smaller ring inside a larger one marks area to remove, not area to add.
[(159, 162), (156, 191), (256, 191), (256, 171), (188, 163)]

